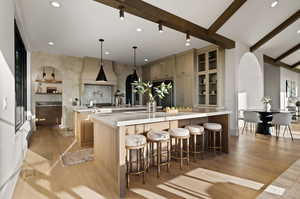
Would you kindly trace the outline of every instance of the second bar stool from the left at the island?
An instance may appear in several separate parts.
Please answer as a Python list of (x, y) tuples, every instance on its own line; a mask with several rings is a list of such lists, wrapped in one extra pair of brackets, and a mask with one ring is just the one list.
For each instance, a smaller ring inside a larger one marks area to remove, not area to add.
[[(166, 131), (149, 131), (147, 133), (148, 143), (150, 145), (150, 162), (157, 167), (157, 177), (160, 176), (160, 167), (167, 166), (167, 171), (170, 169), (171, 150), (170, 150), (170, 135)], [(162, 144), (166, 143), (167, 148), (163, 149)], [(156, 144), (156, 153), (154, 151)], [(155, 157), (157, 158), (155, 165)], [(163, 160), (166, 157), (166, 160)]]

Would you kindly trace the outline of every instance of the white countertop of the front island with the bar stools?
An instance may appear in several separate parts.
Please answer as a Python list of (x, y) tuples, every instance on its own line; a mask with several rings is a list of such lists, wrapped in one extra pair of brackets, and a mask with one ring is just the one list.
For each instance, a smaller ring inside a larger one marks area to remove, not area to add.
[(209, 117), (230, 114), (228, 110), (205, 110), (203, 112), (179, 112), (169, 114), (165, 112), (148, 113), (146, 111), (127, 111), (119, 113), (93, 114), (91, 118), (103, 122), (112, 127), (164, 122), (171, 120), (183, 120), (192, 118)]

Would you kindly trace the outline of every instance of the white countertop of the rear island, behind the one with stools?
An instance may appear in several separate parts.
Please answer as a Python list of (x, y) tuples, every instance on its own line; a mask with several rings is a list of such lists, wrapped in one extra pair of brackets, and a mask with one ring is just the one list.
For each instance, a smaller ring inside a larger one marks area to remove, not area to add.
[[(161, 107), (158, 107), (158, 108), (161, 108)], [(87, 107), (74, 107), (73, 108), (73, 111), (75, 112), (100, 112), (100, 113), (110, 113), (110, 112), (113, 112), (113, 111), (131, 111), (131, 110), (146, 110), (146, 106), (130, 106), (130, 107), (126, 107), (126, 106), (120, 106), (120, 107), (117, 107), (117, 106), (104, 106), (104, 107), (101, 107), (101, 108), (87, 108)]]

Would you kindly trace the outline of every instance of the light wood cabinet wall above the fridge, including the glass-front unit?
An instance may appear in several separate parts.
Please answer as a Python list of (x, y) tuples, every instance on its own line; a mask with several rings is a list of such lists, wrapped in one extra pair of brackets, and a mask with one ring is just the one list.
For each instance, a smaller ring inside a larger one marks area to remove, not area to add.
[(174, 81), (176, 106), (223, 106), (224, 50), (191, 49), (143, 66), (143, 80)]

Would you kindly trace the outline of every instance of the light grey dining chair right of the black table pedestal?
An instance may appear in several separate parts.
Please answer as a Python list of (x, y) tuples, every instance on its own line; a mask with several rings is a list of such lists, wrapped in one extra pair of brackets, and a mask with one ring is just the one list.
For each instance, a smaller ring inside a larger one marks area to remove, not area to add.
[(275, 127), (276, 137), (280, 134), (280, 126), (284, 126), (283, 136), (285, 135), (286, 130), (288, 129), (291, 135), (292, 140), (293, 133), (291, 131), (291, 123), (292, 123), (292, 114), (291, 113), (276, 113), (273, 115), (272, 124)]

